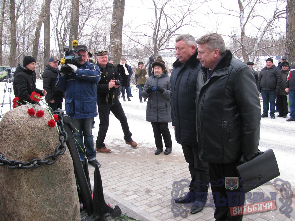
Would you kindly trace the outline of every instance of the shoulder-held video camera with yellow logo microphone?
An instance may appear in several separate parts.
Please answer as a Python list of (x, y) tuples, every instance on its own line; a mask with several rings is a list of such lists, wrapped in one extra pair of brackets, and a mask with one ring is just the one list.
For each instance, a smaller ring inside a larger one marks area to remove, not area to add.
[[(72, 42), (73, 47), (78, 46), (78, 42), (76, 40), (74, 40)], [(60, 59), (60, 64), (62, 64), (63, 66), (61, 67), (61, 71), (64, 74), (72, 74), (72, 68), (67, 65), (67, 64), (74, 64), (77, 61), (81, 61), (82, 57), (81, 55), (76, 55), (75, 56), (75, 52), (73, 48), (69, 48), (69, 46), (64, 46), (63, 47), (64, 50), (64, 56), (62, 59)]]

